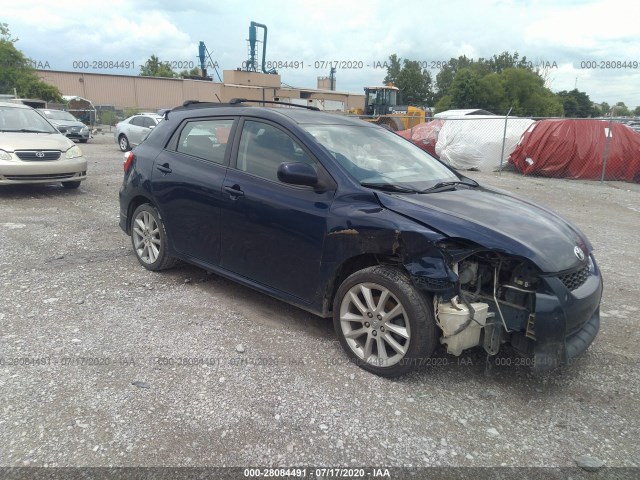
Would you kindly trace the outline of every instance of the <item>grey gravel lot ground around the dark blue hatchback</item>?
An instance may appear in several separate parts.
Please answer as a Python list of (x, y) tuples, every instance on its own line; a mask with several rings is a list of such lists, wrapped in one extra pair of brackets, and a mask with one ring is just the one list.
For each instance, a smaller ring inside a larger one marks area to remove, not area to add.
[(190, 266), (142, 268), (118, 227), (122, 154), (0, 190), (0, 466), (640, 466), (640, 189), (471, 174), (580, 226), (605, 279), (574, 365), (440, 352), (397, 380), (328, 320)]

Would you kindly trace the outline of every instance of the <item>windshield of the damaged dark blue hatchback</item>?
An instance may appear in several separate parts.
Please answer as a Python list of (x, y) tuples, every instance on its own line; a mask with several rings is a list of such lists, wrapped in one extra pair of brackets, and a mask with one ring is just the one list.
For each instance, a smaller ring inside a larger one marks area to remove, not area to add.
[(389, 184), (423, 190), (440, 182), (460, 180), (427, 152), (383, 128), (302, 127), (361, 184)]

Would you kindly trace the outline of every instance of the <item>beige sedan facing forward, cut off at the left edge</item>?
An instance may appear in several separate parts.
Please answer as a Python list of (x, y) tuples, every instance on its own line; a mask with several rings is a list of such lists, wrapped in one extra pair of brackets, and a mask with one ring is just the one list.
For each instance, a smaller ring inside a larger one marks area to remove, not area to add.
[(87, 160), (33, 108), (0, 102), (0, 185), (62, 182), (78, 188)]

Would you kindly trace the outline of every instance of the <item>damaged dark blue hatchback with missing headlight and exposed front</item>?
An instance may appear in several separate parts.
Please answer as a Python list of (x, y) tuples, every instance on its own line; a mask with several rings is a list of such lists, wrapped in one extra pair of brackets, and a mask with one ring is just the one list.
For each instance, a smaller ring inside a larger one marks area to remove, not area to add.
[(577, 227), (367, 122), (187, 102), (124, 170), (120, 226), (144, 267), (181, 259), (332, 316), (378, 375), (439, 344), (510, 343), (548, 370), (598, 332), (602, 279)]

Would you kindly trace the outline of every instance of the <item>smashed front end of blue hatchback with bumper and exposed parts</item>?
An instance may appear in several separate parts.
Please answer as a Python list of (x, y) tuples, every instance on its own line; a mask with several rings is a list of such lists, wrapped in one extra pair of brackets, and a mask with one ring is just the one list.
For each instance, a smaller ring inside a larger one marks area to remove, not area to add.
[(434, 247), (404, 267), (414, 285), (433, 297), (448, 353), (482, 346), (496, 355), (509, 343), (541, 372), (571, 363), (595, 338), (602, 280), (581, 247), (575, 253), (580, 265), (554, 274), (467, 240), (441, 240)]

